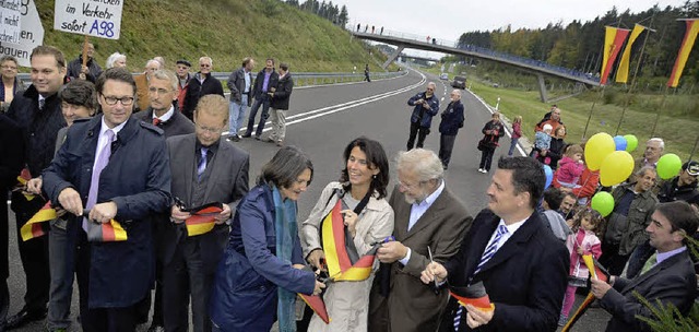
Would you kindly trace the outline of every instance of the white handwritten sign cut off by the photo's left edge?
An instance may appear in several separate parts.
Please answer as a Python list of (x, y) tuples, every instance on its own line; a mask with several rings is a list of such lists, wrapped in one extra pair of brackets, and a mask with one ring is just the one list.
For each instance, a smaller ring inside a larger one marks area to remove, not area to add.
[[(17, 58), (20, 66), (29, 67), (29, 55), (32, 55), (32, 50), (44, 44), (44, 26), (36, 11), (34, 0), (4, 0), (0, 1), (0, 7), (2, 7), (3, 13), (10, 14), (10, 12), (19, 11), (20, 15), (19, 36), (15, 39), (0, 39), (0, 55), (13, 56)], [(12, 19), (8, 23), (12, 23)], [(4, 27), (4, 19), (2, 24)], [(8, 31), (10, 29), (5, 29), (5, 32)]]

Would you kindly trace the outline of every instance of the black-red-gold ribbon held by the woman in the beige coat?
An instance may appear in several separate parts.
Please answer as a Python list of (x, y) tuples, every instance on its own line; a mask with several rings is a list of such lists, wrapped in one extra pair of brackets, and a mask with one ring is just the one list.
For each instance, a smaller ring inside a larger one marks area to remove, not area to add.
[(345, 229), (342, 210), (342, 200), (337, 200), (332, 211), (323, 218), (321, 226), (328, 274), (335, 282), (363, 281), (371, 275), (374, 259), (380, 245), (375, 245), (359, 258), (352, 237)]

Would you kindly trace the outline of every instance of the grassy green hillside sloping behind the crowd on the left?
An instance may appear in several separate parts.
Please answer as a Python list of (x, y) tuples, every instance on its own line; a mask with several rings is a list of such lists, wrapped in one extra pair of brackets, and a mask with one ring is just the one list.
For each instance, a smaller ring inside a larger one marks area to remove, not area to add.
[[(46, 29), (44, 44), (60, 48), (68, 59), (75, 58), (83, 37), (54, 31), (54, 1), (35, 2)], [(292, 71), (348, 72), (364, 63), (378, 70), (364, 43), (351, 40), (348, 33), (327, 20), (277, 0), (129, 0), (123, 4), (121, 38), (91, 40), (100, 66), (119, 51), (127, 55), (131, 71), (142, 70), (155, 56), (165, 57), (171, 69), (177, 59), (196, 63), (203, 55), (214, 60), (214, 71), (238, 68), (247, 56), (257, 60), (257, 69), (272, 57), (277, 63), (288, 62)], [(380, 57), (380, 52), (374, 55)]]

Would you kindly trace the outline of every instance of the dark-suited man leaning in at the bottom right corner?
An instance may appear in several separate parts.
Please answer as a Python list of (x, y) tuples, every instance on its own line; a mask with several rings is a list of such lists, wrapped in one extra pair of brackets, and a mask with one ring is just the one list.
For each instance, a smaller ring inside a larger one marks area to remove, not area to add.
[(592, 294), (602, 308), (612, 313), (606, 331), (651, 331), (638, 316), (654, 319), (651, 309), (640, 303), (636, 292), (652, 306), (673, 305), (687, 316), (697, 297), (697, 275), (689, 258), (687, 237), (697, 232), (699, 220), (684, 201), (661, 203), (645, 227), (655, 253), (632, 280), (612, 276), (609, 284), (592, 280)]

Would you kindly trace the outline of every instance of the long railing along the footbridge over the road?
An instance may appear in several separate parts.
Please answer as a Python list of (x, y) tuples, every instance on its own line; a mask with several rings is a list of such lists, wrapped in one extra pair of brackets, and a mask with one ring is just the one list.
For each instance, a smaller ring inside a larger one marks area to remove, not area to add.
[[(350, 31), (352, 31), (354, 33), (358, 32), (358, 33), (371, 34), (371, 27), (369, 27), (367, 29), (367, 32), (365, 32), (365, 27), (366, 26), (362, 26), (357, 31), (356, 24), (354, 26), (350, 26), (350, 25), (346, 26), (347, 29), (350, 29)], [(505, 61), (510, 61), (510, 62), (519, 62), (519, 63), (523, 63), (523, 64), (526, 64), (526, 66), (530, 66), (530, 67), (536, 67), (536, 68), (545, 69), (545, 70), (548, 70), (548, 71), (558, 72), (558, 73), (561, 73), (561, 74), (566, 74), (566, 75), (570, 75), (570, 76), (574, 76), (574, 78), (579, 78), (579, 79), (583, 79), (583, 80), (588, 80), (588, 81), (593, 81), (593, 82), (599, 82), (600, 81), (600, 78), (593, 75), (592, 73), (585, 73), (585, 72), (582, 72), (582, 71), (579, 71), (579, 70), (569, 69), (569, 68), (565, 68), (565, 67), (561, 67), (561, 66), (550, 64), (550, 63), (547, 63), (547, 62), (542, 61), (542, 60), (535, 60), (535, 59), (531, 59), (531, 58), (524, 58), (524, 57), (520, 57), (520, 56), (514, 56), (514, 55), (511, 55), (511, 54), (493, 50), (493, 49), (489, 49), (489, 48), (486, 48), (486, 47), (481, 47), (481, 46), (475, 46), (475, 45), (460, 45), (459, 42), (435, 38), (433, 36), (416, 35), (416, 34), (404, 33), (404, 32), (395, 32), (395, 31), (390, 31), (390, 29), (383, 29), (383, 32), (381, 33), (380, 27), (375, 29), (374, 35), (395, 37), (395, 38), (402, 38), (402, 39), (410, 39), (410, 40), (413, 40), (413, 42), (425, 44), (426, 46), (427, 45), (437, 45), (437, 46), (463, 49), (463, 50), (467, 50), (467, 51), (485, 55), (485, 56), (488, 56), (488, 57), (497, 59), (497, 60), (505, 60)]]

